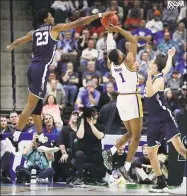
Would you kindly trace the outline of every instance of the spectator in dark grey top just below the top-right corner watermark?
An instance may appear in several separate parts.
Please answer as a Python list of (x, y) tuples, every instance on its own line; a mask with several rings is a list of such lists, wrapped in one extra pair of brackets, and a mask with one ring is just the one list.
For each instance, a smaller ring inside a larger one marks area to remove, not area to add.
[(167, 22), (171, 29), (175, 29), (178, 16), (179, 16), (178, 9), (171, 10), (171, 9), (164, 8), (162, 12), (162, 22), (163, 23)]

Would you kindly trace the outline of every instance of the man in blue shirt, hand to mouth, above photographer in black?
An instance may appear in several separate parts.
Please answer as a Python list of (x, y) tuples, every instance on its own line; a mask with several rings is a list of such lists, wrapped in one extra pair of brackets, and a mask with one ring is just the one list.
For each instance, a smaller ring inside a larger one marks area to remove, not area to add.
[(87, 87), (79, 91), (76, 104), (77, 107), (92, 107), (98, 106), (100, 99), (100, 92), (95, 89), (93, 81), (87, 82)]

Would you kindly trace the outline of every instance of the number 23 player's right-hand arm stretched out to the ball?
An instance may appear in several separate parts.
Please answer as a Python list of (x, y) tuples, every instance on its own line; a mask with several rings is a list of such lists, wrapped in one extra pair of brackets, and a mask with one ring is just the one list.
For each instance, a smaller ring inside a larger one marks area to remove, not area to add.
[(86, 17), (82, 17), (82, 18), (79, 18), (78, 20), (74, 21), (74, 22), (69, 22), (67, 24), (58, 24), (56, 26), (53, 27), (53, 30), (56, 31), (56, 32), (61, 32), (61, 31), (68, 31), (70, 29), (74, 29), (78, 26), (83, 26), (83, 25), (87, 25), (87, 24), (90, 24), (92, 21), (100, 18), (100, 17), (103, 17), (103, 16), (107, 16), (107, 15), (113, 15), (114, 13), (116, 12), (104, 12), (104, 13), (101, 13), (101, 16), (99, 14), (95, 14), (95, 15), (92, 15), (92, 16), (86, 16)]

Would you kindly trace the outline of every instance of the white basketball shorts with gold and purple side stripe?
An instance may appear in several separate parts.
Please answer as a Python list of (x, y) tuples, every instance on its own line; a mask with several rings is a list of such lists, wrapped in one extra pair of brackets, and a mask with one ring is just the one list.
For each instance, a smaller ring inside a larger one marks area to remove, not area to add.
[(116, 106), (122, 121), (143, 117), (142, 101), (138, 94), (118, 95)]

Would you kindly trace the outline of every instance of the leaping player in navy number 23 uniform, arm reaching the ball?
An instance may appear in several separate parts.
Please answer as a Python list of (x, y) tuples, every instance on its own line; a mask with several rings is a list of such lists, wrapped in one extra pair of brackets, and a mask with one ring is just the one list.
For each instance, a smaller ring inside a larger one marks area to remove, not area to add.
[(60, 32), (68, 31), (70, 29), (76, 28), (77, 26), (89, 24), (97, 18), (114, 13), (115, 12), (99, 13), (80, 18), (67, 24), (54, 25), (54, 18), (52, 14), (48, 10), (43, 9), (40, 10), (36, 16), (37, 22), (39, 25), (41, 25), (40, 28), (29, 32), (24, 37), (17, 39), (12, 44), (7, 46), (7, 49), (12, 51), (13, 49), (31, 40), (33, 41), (33, 58), (27, 72), (29, 96), (27, 104), (20, 115), (17, 131), (15, 131), (13, 137), (11, 138), (14, 146), (17, 145), (20, 133), (23, 130), (31, 113), (33, 114), (37, 132), (42, 133), (42, 99), (46, 94), (46, 84), (50, 72), (49, 66), (52, 63), (53, 57), (55, 55)]

